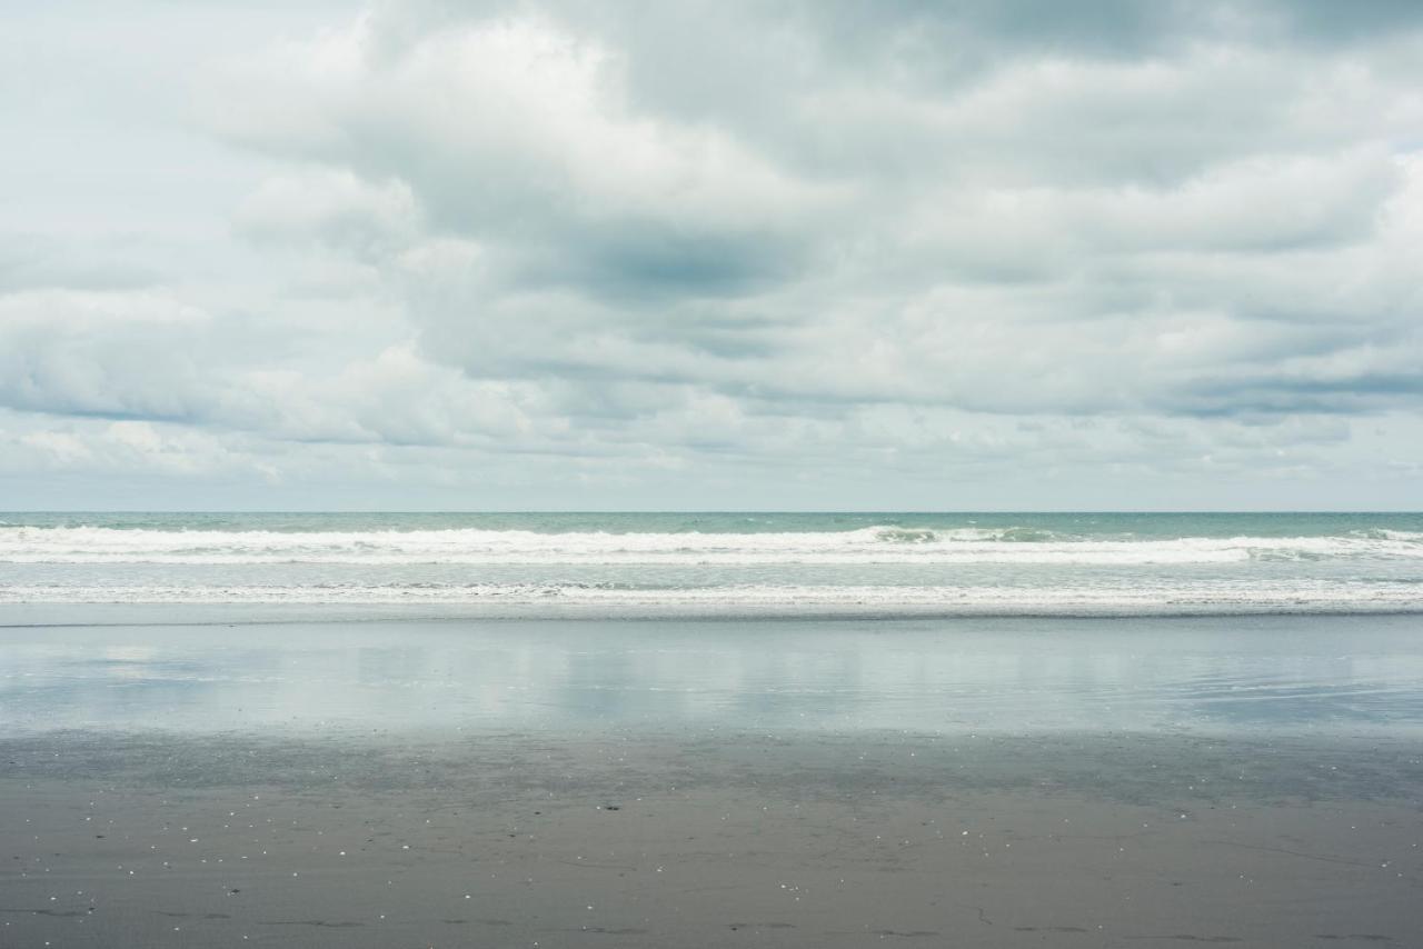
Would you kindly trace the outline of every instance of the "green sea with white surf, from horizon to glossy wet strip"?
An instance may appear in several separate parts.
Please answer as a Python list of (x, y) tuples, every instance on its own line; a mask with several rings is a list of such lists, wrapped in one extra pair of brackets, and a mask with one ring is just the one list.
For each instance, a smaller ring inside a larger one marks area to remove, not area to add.
[(1423, 612), (1423, 514), (0, 514), (0, 603)]

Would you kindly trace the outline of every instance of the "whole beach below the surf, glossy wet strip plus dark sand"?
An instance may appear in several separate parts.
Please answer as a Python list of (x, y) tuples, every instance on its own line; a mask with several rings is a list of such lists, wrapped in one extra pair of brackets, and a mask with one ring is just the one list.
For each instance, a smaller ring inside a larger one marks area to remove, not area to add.
[[(1412, 945), (1412, 616), (11, 608), (4, 945)], [(185, 622), (188, 620), (188, 622)]]

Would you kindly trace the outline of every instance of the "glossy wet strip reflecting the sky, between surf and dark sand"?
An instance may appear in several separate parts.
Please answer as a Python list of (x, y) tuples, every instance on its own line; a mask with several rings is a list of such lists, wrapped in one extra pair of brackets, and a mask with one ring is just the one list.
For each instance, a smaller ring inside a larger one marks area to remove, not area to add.
[(0, 610), (3, 731), (1423, 731), (1414, 616), (194, 619)]

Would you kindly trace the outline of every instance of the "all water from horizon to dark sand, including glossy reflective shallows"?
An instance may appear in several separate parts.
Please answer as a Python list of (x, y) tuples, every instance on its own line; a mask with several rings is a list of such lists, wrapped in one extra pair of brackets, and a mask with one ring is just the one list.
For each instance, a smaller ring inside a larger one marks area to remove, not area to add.
[(1423, 730), (1414, 514), (0, 521), (11, 730)]

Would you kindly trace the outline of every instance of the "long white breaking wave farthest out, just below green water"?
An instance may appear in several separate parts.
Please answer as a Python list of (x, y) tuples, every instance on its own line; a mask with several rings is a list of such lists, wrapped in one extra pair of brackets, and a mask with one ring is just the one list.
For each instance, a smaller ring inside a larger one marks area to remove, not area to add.
[(1083, 536), (1035, 528), (781, 534), (535, 531), (154, 531), (0, 526), (0, 563), (1231, 563), (1423, 559), (1423, 532)]

